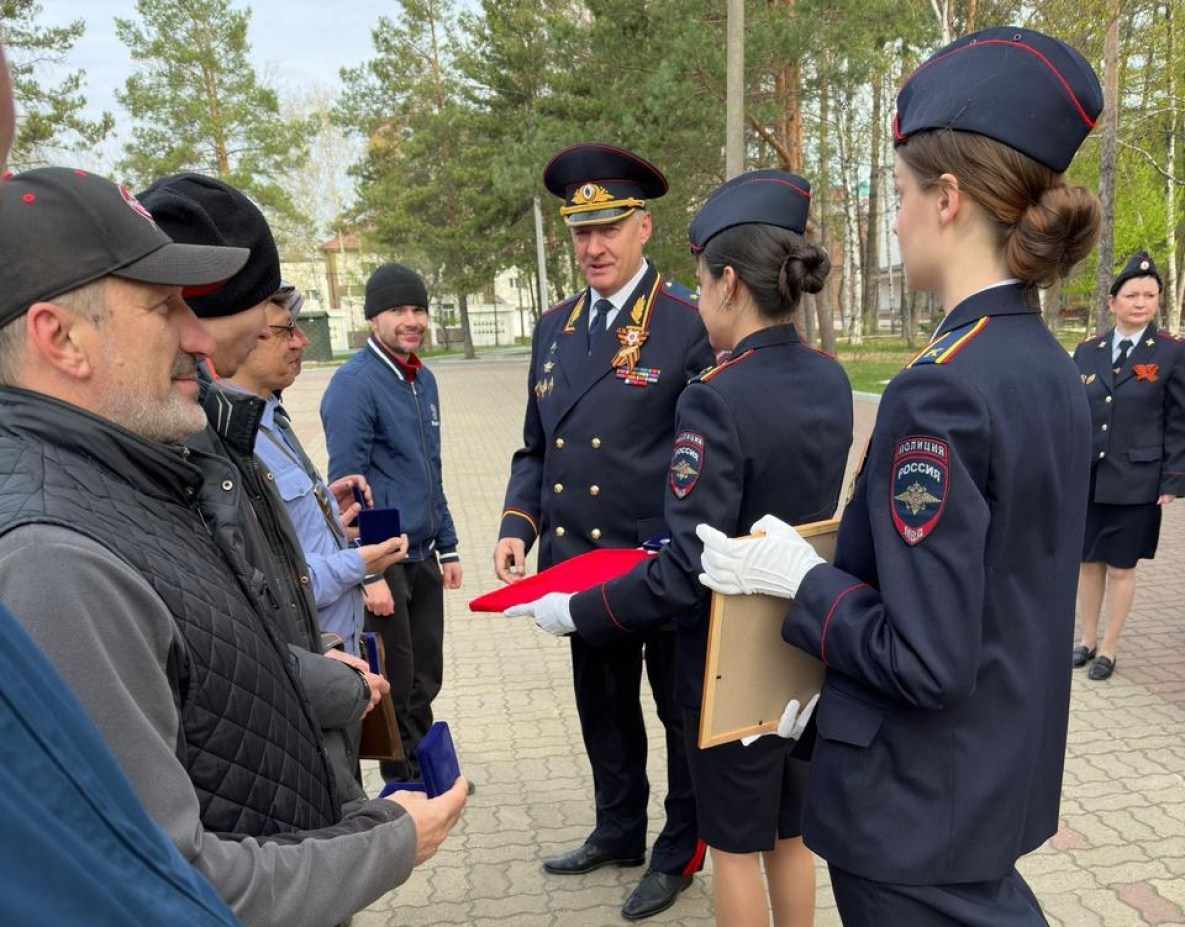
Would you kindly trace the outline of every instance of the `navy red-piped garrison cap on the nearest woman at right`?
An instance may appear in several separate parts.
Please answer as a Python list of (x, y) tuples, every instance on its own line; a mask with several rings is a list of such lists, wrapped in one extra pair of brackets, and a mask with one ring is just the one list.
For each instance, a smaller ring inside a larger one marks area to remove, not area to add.
[(973, 132), (1063, 173), (1103, 109), (1090, 64), (1064, 41), (1000, 26), (953, 41), (902, 87), (895, 143), (925, 129)]

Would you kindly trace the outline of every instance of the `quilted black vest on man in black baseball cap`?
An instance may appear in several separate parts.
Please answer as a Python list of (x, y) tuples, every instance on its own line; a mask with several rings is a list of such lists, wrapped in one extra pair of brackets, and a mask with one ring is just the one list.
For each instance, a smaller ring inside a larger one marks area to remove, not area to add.
[(203, 479), (199, 456), (2, 389), (0, 532), (78, 531), (165, 602), (185, 641), (168, 666), (178, 757), (207, 830), (268, 837), (334, 824), (340, 808), (320, 731), (287, 648), (252, 605), (262, 576), (214, 543), (217, 522), (235, 506), (223, 484)]

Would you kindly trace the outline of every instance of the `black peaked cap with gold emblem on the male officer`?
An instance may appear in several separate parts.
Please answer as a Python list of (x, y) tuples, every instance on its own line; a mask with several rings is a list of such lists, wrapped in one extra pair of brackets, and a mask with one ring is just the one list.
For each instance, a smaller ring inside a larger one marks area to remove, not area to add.
[(596, 142), (564, 148), (543, 168), (543, 185), (564, 200), (559, 215), (572, 229), (621, 222), (667, 191), (666, 178), (649, 161)]

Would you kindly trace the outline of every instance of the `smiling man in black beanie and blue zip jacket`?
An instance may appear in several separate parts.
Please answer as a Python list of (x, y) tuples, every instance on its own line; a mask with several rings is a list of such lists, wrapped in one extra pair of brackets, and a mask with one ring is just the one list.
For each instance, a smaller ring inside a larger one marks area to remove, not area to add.
[(371, 337), (329, 382), (321, 423), (329, 480), (361, 473), (376, 507), (399, 510), (408, 557), (385, 571), (395, 614), (367, 614), (383, 637), (386, 678), (408, 753), (383, 761), (387, 781), (418, 779), (415, 752), (433, 723), (444, 672), (444, 593), (461, 588), (456, 529), (441, 478), (441, 401), (416, 357), (428, 331), (428, 289), (411, 268), (384, 264), (366, 282)]

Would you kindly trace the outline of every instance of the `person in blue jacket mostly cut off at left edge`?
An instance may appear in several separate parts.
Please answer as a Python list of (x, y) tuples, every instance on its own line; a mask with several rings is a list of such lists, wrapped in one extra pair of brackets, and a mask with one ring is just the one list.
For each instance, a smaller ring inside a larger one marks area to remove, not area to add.
[[(12, 103), (0, 46), (0, 173)], [(0, 922), (69, 923), (85, 912), (96, 923), (238, 923), (149, 819), (85, 709), (2, 606), (0, 729), (0, 792), (8, 803)], [(79, 794), (90, 800), (79, 803)]]

